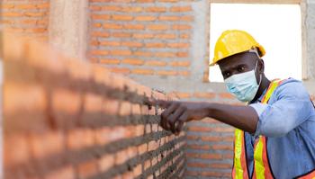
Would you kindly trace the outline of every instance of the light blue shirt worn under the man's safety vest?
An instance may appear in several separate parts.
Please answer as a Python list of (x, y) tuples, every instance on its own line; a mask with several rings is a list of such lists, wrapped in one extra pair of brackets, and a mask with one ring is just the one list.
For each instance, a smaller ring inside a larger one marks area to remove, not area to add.
[(253, 174), (255, 139), (267, 137), (267, 156), (276, 179), (290, 179), (315, 170), (315, 110), (301, 81), (289, 78), (267, 104), (249, 104), (259, 117), (254, 135), (245, 132), (247, 166)]

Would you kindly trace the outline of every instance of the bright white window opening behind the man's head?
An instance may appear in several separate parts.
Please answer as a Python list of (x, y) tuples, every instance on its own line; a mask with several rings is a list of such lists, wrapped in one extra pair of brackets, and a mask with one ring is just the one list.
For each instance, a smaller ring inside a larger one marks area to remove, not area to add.
[[(298, 4), (211, 4), (210, 60), (222, 31), (250, 33), (266, 49), (265, 74), (269, 79), (302, 79), (302, 23)], [(223, 82), (218, 66), (209, 80)]]

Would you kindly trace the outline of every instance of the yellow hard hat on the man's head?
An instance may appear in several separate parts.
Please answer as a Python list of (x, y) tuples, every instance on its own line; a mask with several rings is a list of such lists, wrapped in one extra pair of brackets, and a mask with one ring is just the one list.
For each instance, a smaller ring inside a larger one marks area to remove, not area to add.
[(266, 54), (265, 49), (246, 31), (223, 31), (214, 48), (214, 58), (210, 66), (214, 66), (223, 58), (247, 51), (258, 49), (259, 57)]

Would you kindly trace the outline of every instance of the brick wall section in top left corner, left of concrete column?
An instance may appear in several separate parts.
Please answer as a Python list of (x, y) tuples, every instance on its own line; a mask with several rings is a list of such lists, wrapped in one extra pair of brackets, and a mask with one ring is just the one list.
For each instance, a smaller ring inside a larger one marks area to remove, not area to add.
[(48, 40), (49, 0), (1, 0), (0, 24), (31, 39)]

